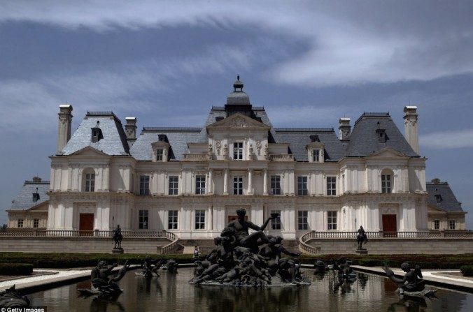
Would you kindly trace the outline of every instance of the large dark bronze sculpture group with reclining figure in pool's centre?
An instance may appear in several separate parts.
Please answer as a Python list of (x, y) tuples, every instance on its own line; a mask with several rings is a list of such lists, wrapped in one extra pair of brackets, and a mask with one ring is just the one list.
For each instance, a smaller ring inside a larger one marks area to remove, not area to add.
[[(238, 219), (230, 222), (216, 237), (216, 247), (206, 259), (197, 260), (195, 277), (190, 283), (206, 285), (309, 285), (303, 281), (297, 259), (284, 257), (300, 253), (288, 251), (281, 237), (265, 235), (263, 230), (269, 221), (278, 218), (271, 214), (262, 226), (245, 220), (246, 210), (236, 211)], [(248, 230), (255, 232), (249, 234)]]

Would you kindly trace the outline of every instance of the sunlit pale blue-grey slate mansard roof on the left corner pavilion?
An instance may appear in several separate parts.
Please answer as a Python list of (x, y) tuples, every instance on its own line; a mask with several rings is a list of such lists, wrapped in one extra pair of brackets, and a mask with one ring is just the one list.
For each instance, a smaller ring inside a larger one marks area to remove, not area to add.
[[(103, 138), (92, 142), (92, 128), (97, 126), (97, 121)], [(120, 119), (113, 112), (87, 112), (71, 140), (62, 149), (62, 153), (70, 155), (84, 147), (93, 147), (108, 155), (128, 155), (127, 135)]]

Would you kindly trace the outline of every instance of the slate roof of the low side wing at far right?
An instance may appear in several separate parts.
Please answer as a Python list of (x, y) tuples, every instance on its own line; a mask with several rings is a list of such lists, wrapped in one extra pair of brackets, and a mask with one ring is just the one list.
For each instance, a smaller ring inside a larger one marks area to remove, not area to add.
[(443, 211), (463, 211), (462, 203), (457, 200), (447, 182), (427, 182), (428, 204)]

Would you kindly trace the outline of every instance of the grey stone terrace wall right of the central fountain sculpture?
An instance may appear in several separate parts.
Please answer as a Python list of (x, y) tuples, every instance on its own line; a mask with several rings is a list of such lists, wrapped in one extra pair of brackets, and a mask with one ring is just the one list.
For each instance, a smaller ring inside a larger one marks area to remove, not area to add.
[[(311, 239), (307, 242), (319, 253), (355, 253), (355, 239)], [(402, 253), (473, 253), (472, 239), (369, 239), (366, 245), (369, 254)]]

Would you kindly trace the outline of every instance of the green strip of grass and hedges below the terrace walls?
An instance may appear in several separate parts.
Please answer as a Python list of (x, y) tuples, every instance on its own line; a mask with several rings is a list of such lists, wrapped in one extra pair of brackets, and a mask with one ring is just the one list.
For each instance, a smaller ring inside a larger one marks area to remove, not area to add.
[[(194, 262), (193, 255), (150, 254), (152, 258), (175, 259), (179, 263)], [(71, 267), (94, 267), (99, 260), (105, 260), (109, 264), (129, 263), (141, 264), (145, 255), (137, 253), (125, 253), (113, 255), (110, 253), (0, 253), (0, 263), (31, 263), (37, 268), (71, 268)], [(203, 256), (202, 256), (203, 257)], [(201, 257), (201, 258), (202, 258)], [(330, 263), (331, 259), (338, 259), (341, 255), (302, 255), (299, 257), (304, 264), (313, 264), (316, 259)], [(367, 267), (380, 266), (386, 262), (390, 267), (400, 267), (402, 262), (411, 265), (419, 265), (422, 269), (460, 269), (463, 265), (472, 265), (473, 254), (459, 255), (344, 255), (353, 261), (354, 265), (365, 265)]]

